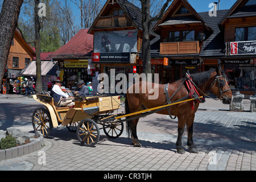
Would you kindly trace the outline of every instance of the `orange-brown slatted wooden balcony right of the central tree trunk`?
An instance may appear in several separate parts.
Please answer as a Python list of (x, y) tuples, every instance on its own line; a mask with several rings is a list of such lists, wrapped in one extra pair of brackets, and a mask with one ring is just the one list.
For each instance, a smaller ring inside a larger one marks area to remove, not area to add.
[(200, 53), (198, 41), (160, 43), (160, 55)]

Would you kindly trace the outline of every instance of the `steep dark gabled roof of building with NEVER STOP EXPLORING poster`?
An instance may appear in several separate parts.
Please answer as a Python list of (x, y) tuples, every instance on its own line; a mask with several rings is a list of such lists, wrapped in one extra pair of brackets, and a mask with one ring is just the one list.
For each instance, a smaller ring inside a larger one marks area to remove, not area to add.
[[(108, 1), (106, 1), (104, 7), (101, 9), (101, 11), (98, 14), (97, 18), (94, 20), (92, 26), (89, 28), (89, 31), (88, 31), (89, 34), (91, 34), (91, 31), (93, 30), (95, 24), (98, 22), (98, 19), (100, 18), (102, 13), (104, 13), (104, 10), (106, 9), (106, 7), (109, 5), (109, 3), (111, 4), (112, 2), (118, 3), (118, 5), (121, 7), (123, 12), (128, 16), (128, 18), (131, 20), (131, 22), (133, 23), (134, 27), (137, 30), (142, 30), (142, 24), (141, 24), (141, 22), (142, 22), (142, 14), (141, 14), (141, 9), (139, 9), (137, 6), (133, 5), (133, 3), (130, 3), (127, 0), (114, 0), (114, 1), (108, 0)], [(152, 34), (154, 34), (154, 33), (152, 33)]]

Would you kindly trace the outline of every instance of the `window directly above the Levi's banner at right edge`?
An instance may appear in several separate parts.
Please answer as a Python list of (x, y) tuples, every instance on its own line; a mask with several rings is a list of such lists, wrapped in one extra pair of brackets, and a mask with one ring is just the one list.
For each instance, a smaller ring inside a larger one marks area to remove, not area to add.
[(235, 41), (251, 41), (256, 40), (256, 27), (236, 28)]

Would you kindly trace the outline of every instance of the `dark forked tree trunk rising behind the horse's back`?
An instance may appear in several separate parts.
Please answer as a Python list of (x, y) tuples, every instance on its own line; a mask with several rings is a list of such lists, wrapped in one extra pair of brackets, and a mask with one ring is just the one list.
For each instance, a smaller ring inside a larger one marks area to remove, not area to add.
[[(119, 0), (117, 0), (119, 1)], [(160, 20), (163, 17), (164, 11), (168, 6), (168, 3), (171, 0), (166, 0), (162, 8), (158, 13), (155, 13), (154, 16), (151, 16), (151, 1), (150, 0), (137, 0), (141, 2), (141, 14), (142, 14), (142, 31), (143, 31), (143, 38), (142, 38), (142, 60), (143, 60), (143, 73), (151, 73), (151, 56), (150, 56), (150, 25), (152, 22), (156, 20)], [(154, 0), (153, 0), (154, 1)], [(159, 3), (159, 1), (158, 1)], [(126, 6), (125, 3), (122, 5)], [(159, 7), (159, 5), (158, 5)]]

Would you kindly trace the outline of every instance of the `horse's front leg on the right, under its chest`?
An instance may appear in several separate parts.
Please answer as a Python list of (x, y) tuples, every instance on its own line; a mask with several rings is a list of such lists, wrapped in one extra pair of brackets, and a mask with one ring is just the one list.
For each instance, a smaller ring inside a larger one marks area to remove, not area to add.
[(193, 122), (195, 119), (195, 114), (188, 117), (187, 120), (187, 131), (188, 131), (188, 149), (191, 153), (198, 153), (198, 150), (196, 149), (196, 146), (193, 142)]

